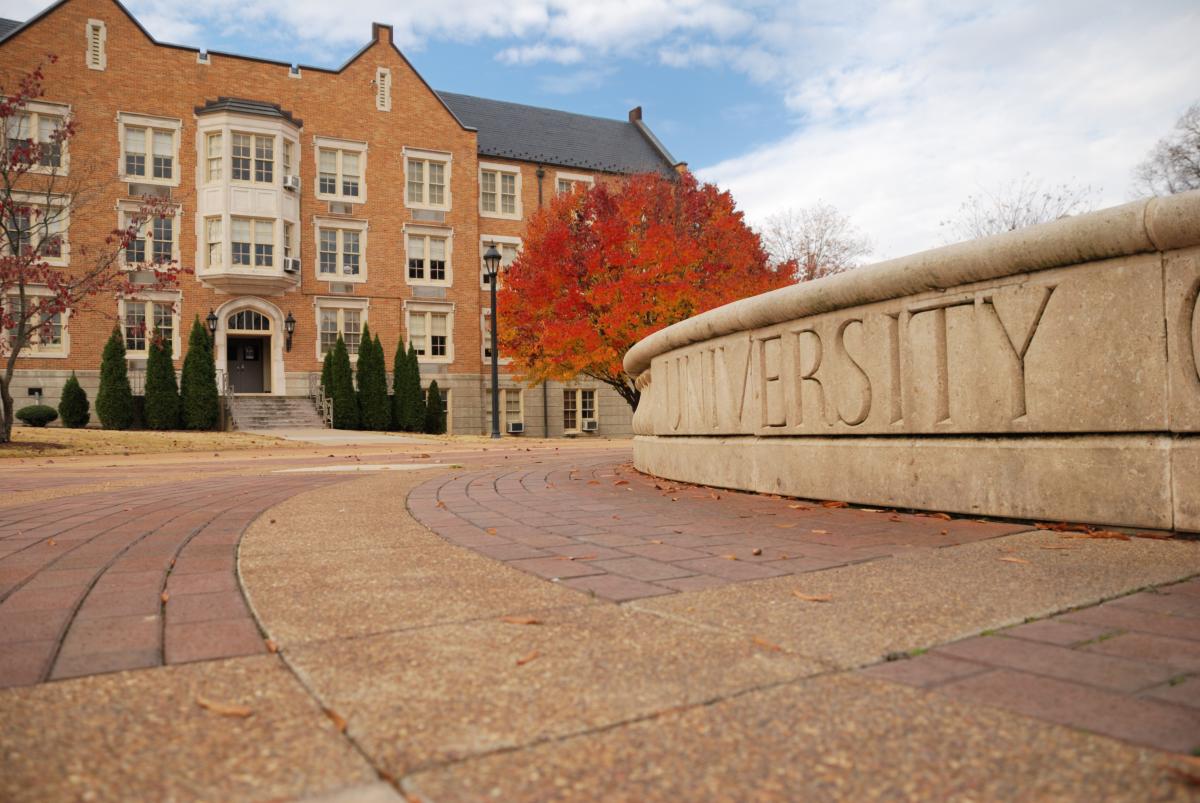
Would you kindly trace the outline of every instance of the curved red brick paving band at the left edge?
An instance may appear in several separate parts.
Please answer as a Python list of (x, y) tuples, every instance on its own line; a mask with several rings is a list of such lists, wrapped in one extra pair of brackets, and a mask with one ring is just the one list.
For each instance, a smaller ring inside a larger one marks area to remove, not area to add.
[(266, 508), (337, 479), (222, 477), (5, 509), (0, 688), (264, 652), (238, 541)]

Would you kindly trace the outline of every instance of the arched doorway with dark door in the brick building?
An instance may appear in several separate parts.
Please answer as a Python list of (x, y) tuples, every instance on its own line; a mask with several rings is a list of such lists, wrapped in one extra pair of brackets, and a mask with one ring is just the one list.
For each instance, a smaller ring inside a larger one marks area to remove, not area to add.
[(217, 311), (216, 362), (235, 394), (282, 394), (282, 316), (269, 301), (241, 298)]

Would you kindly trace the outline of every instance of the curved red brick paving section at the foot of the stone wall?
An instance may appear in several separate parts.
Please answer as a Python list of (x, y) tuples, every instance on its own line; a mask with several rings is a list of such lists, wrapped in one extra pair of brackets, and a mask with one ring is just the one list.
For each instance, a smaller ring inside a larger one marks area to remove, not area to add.
[(446, 540), (612, 601), (817, 571), (1028, 526), (713, 491), (612, 455), (439, 475), (409, 510)]

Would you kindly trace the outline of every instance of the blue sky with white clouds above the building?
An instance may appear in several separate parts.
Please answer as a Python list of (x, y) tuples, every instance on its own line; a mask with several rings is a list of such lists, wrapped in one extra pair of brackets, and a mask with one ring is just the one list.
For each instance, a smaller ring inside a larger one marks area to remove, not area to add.
[[(1196, 0), (128, 0), (161, 41), (338, 66), (371, 22), (437, 89), (644, 120), (748, 220), (830, 203), (874, 258), (1025, 176), (1129, 200), (1200, 101)], [(0, 16), (28, 17), (28, 0)]]

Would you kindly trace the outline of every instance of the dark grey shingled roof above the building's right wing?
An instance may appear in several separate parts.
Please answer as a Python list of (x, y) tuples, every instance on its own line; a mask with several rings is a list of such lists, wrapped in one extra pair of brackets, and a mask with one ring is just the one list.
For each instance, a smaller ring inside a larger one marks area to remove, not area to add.
[(481, 156), (607, 173), (664, 173), (676, 161), (640, 120), (626, 122), (485, 97), (438, 92), (479, 130)]

